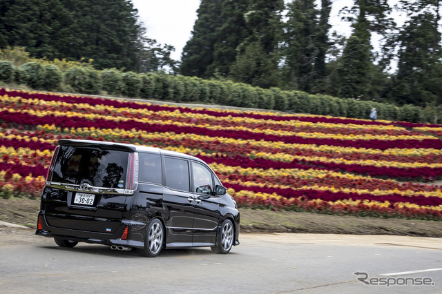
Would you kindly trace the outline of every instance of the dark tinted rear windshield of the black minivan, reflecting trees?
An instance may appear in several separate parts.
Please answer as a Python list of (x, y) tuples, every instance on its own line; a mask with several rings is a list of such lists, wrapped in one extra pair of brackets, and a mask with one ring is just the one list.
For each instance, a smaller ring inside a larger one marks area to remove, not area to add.
[(52, 182), (124, 188), (127, 164), (126, 151), (60, 146)]

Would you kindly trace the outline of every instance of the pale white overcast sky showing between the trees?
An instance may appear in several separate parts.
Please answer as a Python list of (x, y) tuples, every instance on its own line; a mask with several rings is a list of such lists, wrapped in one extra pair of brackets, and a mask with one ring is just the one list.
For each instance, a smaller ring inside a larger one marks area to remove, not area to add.
[[(174, 46), (175, 52), (171, 57), (180, 60), (182, 48), (191, 39), (200, 0), (132, 0), (132, 3), (147, 29), (147, 37), (162, 45)], [(344, 6), (352, 6), (352, 3), (353, 0), (334, 0), (330, 15), (332, 31), (336, 30), (346, 37), (349, 37), (351, 29), (348, 23), (340, 21), (338, 12)]]

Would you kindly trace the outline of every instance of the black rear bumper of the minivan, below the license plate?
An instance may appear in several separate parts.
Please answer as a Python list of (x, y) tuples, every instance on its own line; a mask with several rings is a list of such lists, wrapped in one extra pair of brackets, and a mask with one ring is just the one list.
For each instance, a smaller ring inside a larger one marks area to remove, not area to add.
[[(44, 237), (59, 237), (61, 239), (69, 239), (77, 242), (86, 242), (90, 244), (104, 244), (104, 245), (117, 245), (117, 246), (129, 246), (135, 248), (144, 248), (144, 234), (141, 235), (146, 225), (141, 222), (134, 222), (130, 220), (122, 220), (121, 225), (113, 233), (98, 233), (90, 231), (73, 230), (70, 228), (59, 228), (49, 226), (46, 222), (44, 213), (40, 212), (39, 217), (41, 219), (41, 230), (37, 228), (35, 235)], [(121, 237), (124, 230), (128, 227), (128, 239), (122, 240)], [(145, 229), (144, 229), (145, 231)]]

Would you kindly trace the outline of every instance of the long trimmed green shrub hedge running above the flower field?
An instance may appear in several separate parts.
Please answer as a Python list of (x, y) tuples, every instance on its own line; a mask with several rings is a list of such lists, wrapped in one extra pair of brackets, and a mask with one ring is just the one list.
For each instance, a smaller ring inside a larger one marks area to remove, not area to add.
[(90, 95), (106, 92), (113, 96), (221, 104), (360, 119), (367, 119), (370, 110), (376, 107), (379, 119), (423, 121), (422, 109), (412, 105), (397, 107), (372, 101), (310, 95), (296, 90), (262, 89), (232, 81), (166, 75), (164, 72), (137, 74), (121, 72), (115, 68), (99, 71), (92, 67), (74, 66), (62, 73), (54, 65), (41, 66), (36, 62), (28, 62), (15, 67), (10, 61), (0, 61), (0, 81), (6, 83), (16, 81), (42, 90), (64, 90)]

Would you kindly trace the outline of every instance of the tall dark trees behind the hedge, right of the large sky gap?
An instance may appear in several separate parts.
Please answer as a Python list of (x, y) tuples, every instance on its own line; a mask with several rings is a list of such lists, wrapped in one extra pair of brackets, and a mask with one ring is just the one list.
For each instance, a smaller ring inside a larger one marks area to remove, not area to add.
[[(332, 37), (331, 0), (202, 0), (182, 75), (398, 105), (442, 103), (441, 0), (354, 0)], [(407, 14), (398, 27), (392, 12)], [(374, 51), (372, 34), (381, 35)], [(336, 35), (336, 34), (335, 34)], [(392, 61), (396, 70), (392, 71)]]

